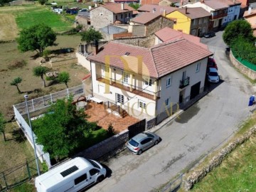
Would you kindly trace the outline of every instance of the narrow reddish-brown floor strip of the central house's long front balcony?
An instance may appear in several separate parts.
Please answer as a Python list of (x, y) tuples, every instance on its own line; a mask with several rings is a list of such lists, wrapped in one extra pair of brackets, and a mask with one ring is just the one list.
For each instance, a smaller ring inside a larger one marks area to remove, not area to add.
[[(110, 80), (106, 80), (105, 78), (97, 78), (97, 81), (100, 81), (100, 82), (103, 82), (103, 83), (105, 83), (107, 85), (110, 85)], [(145, 98), (147, 98), (149, 100), (154, 100), (154, 95), (150, 95), (150, 94), (148, 94), (146, 92), (142, 92), (140, 90), (132, 89), (132, 91), (130, 91), (129, 87), (127, 87), (125, 85), (121, 85), (121, 84), (119, 84), (117, 82), (112, 82), (111, 86), (117, 87), (117, 88), (119, 88), (121, 90), (126, 90), (127, 92), (132, 92), (135, 95), (139, 95), (139, 96), (145, 97)], [(156, 97), (156, 100), (157, 99), (159, 99), (159, 97)]]

